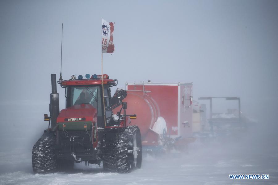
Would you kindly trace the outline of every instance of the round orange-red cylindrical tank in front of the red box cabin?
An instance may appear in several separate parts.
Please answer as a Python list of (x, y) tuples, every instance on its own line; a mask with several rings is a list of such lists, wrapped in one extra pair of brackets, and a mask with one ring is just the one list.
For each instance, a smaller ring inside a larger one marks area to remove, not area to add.
[[(129, 125), (137, 125), (141, 131), (141, 135), (146, 135), (160, 116), (157, 103), (150, 95), (141, 91), (127, 91), (127, 97), (123, 101), (126, 101), (128, 105), (126, 114), (137, 114), (137, 119), (132, 119)], [(113, 109), (114, 114), (120, 108), (121, 106)]]

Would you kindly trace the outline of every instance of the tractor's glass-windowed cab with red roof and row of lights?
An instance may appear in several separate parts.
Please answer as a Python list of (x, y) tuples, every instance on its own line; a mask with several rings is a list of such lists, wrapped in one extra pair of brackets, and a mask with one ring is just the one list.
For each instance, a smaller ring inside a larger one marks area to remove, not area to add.
[[(66, 97), (66, 109), (61, 110), (63, 112), (69, 112), (72, 109), (95, 109), (95, 114), (90, 115), (87, 119), (93, 121), (96, 120), (98, 127), (109, 126), (109, 122), (112, 117), (112, 106), (111, 106), (111, 94), (110, 87), (117, 85), (117, 80), (109, 79), (108, 75), (103, 75), (103, 88), (102, 88), (102, 75), (92, 75), (86, 74), (86, 79), (83, 79), (81, 75), (78, 79), (73, 75), (70, 80), (64, 80), (61, 86), (65, 88)], [(105, 117), (104, 122), (103, 115), (103, 95), (104, 95), (104, 108)], [(77, 112), (77, 111), (75, 111)], [(57, 122), (60, 120), (61, 113), (57, 118)], [(84, 111), (80, 112), (77, 118), (84, 117), (82, 114)], [(70, 113), (66, 115), (67, 117), (74, 118)], [(65, 117), (63, 117), (65, 118)], [(86, 119), (86, 118), (85, 118)]]

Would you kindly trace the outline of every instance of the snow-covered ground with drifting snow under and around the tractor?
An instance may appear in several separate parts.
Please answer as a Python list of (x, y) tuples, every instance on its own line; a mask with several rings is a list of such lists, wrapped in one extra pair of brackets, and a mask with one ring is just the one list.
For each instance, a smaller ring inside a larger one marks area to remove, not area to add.
[[(75, 164), (70, 173), (33, 174), (32, 146), (47, 122), (36, 115), (2, 115), (0, 130), (0, 184), (278, 184), (278, 147), (275, 132), (250, 130), (234, 138), (197, 141), (182, 154), (145, 156), (142, 168), (129, 174), (106, 173), (97, 165)], [(30, 111), (30, 110), (29, 110)], [(2, 112), (3, 113), (3, 112)], [(30, 115), (30, 114), (29, 114)], [(13, 122), (9, 119), (13, 117)], [(269, 137), (267, 137), (269, 136)], [(230, 180), (229, 174), (269, 174), (269, 180)]]

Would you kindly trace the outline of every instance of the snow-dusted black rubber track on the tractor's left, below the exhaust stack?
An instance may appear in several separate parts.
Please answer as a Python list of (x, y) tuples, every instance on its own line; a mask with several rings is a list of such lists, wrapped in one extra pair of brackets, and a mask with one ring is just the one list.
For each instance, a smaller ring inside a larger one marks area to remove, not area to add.
[(34, 173), (45, 174), (57, 171), (55, 142), (56, 137), (53, 133), (44, 133), (33, 146), (32, 166)]

